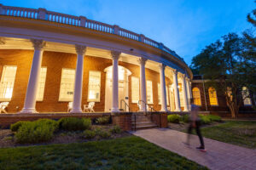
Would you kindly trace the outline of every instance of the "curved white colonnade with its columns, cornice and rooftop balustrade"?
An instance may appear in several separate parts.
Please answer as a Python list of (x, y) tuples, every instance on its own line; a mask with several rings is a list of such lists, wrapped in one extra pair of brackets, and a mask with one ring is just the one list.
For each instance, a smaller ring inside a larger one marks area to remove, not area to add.
[[(55, 13), (44, 8), (16, 8), (0, 4), (0, 14), (0, 50), (34, 50), (21, 113), (37, 112), (36, 95), (44, 51), (77, 55), (73, 113), (82, 112), (85, 55), (112, 59), (112, 112), (119, 112), (119, 60), (139, 66), (140, 100), (145, 103), (148, 101), (147, 68), (160, 74), (160, 111), (181, 111), (180, 97), (183, 98), (183, 111), (189, 111), (192, 72), (181, 57), (162, 43), (119, 26), (88, 20), (84, 16)], [(167, 104), (166, 99), (166, 78), (172, 82), (172, 109), (171, 102)], [(181, 87), (178, 82), (181, 82)], [(183, 89), (183, 96), (180, 96), (179, 88)], [(146, 105), (142, 105), (140, 111), (147, 111)]]

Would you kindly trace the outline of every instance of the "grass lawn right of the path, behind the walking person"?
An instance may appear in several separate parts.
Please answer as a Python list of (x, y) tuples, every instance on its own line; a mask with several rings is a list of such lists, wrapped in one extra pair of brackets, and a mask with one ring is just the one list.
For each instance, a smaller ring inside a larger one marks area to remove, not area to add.
[(201, 128), (204, 137), (256, 149), (256, 122), (229, 121)]

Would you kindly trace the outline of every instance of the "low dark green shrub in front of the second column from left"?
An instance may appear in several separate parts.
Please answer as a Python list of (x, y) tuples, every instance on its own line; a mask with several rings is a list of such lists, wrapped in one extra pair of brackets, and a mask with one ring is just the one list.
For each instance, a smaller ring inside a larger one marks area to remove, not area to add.
[(59, 121), (59, 128), (67, 131), (90, 129), (91, 121), (87, 118), (62, 117)]

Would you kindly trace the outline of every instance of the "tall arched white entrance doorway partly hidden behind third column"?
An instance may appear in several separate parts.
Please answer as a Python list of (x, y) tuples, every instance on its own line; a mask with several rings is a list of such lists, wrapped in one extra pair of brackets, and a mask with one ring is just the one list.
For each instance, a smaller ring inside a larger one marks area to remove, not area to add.
[[(112, 108), (112, 66), (108, 66), (106, 72), (106, 86), (105, 86), (105, 111), (111, 111)], [(124, 99), (129, 105), (129, 79), (131, 71), (119, 65), (119, 108), (120, 101)], [(125, 107), (125, 105), (123, 105)], [(123, 108), (124, 109), (124, 108)]]

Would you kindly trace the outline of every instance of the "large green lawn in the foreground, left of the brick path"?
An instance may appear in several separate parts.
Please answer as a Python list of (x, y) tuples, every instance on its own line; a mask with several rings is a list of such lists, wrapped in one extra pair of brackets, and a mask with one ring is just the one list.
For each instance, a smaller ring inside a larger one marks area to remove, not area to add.
[(135, 137), (0, 149), (0, 169), (207, 169)]

